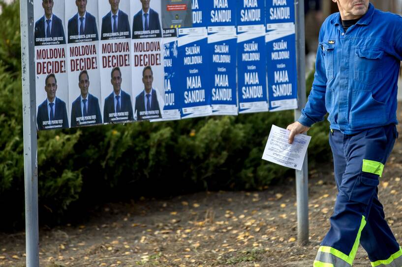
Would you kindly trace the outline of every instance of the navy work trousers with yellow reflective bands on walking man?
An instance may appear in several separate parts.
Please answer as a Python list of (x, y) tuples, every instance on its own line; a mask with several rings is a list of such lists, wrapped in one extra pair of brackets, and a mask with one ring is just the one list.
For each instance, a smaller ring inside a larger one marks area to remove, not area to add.
[(402, 250), (385, 220), (378, 184), (398, 132), (394, 124), (342, 134), (331, 130), (338, 195), (314, 267), (350, 267), (359, 243), (371, 266), (402, 267)]

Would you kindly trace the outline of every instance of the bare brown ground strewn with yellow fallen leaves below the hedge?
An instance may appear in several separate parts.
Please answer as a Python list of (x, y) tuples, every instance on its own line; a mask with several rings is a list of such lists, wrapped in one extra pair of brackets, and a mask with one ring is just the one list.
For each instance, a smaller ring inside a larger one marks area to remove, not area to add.
[[(386, 219), (400, 242), (401, 139), (379, 186)], [(106, 205), (85, 225), (41, 229), (40, 266), (311, 267), (333, 212), (332, 168), (328, 162), (309, 172), (305, 246), (297, 240), (294, 179), (281, 178), (280, 185), (259, 192), (202, 192)], [(24, 233), (0, 234), (0, 266), (25, 266)], [(370, 266), (362, 247), (353, 266)]]

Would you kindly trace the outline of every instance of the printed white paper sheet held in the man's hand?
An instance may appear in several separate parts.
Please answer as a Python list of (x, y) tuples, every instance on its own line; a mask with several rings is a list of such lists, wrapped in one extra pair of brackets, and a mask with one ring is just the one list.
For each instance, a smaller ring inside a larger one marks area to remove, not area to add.
[(262, 159), (301, 170), (311, 136), (296, 134), (293, 143), (289, 144), (289, 133), (286, 129), (272, 125)]

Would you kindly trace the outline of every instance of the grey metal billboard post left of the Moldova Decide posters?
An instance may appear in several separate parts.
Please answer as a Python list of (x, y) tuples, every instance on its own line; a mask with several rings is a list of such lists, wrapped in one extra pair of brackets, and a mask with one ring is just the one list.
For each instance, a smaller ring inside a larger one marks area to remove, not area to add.
[(27, 267), (39, 267), (33, 0), (20, 1)]

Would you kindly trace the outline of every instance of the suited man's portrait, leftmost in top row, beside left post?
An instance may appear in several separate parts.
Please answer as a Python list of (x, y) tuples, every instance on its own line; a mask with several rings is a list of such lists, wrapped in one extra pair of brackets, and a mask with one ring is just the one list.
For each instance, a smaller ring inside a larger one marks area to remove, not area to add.
[(62, 20), (53, 14), (53, 4), (53, 0), (42, 0), (42, 7), (45, 11), (45, 15), (35, 22), (35, 46), (42, 45), (42, 42), (36, 41), (36, 38), (49, 37), (63, 37), (59, 44), (65, 44)]

